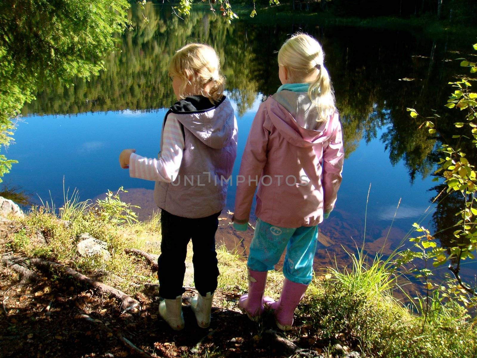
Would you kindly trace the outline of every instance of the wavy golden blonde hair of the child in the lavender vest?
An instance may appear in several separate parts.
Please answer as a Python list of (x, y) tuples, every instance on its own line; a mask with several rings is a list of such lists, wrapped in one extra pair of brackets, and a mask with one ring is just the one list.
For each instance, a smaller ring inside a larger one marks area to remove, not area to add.
[(179, 97), (185, 98), (187, 84), (200, 95), (216, 103), (222, 98), (225, 78), (219, 71), (219, 60), (214, 48), (203, 43), (189, 43), (177, 50), (169, 64), (169, 75), (185, 79), (179, 89)]

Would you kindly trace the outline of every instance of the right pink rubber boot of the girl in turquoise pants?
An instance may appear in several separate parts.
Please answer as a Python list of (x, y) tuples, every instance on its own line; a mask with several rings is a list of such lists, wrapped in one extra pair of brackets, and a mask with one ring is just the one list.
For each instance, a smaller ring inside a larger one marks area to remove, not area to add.
[(293, 325), (293, 313), (303, 298), (307, 284), (297, 284), (285, 278), (281, 289), (280, 299), (276, 302), (266, 302), (267, 307), (273, 310), (277, 326), (283, 331), (289, 331)]

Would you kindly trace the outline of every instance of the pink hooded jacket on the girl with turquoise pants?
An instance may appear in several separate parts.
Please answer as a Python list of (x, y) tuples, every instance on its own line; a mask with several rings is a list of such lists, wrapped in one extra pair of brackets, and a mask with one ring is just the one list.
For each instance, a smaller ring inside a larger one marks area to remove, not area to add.
[[(308, 101), (308, 102), (307, 102)], [(272, 225), (297, 228), (323, 221), (341, 184), (343, 144), (335, 112), (317, 123), (306, 93), (281, 91), (259, 107), (240, 165), (233, 221), (249, 221), (257, 185), (256, 216)], [(308, 120), (307, 120), (308, 119)], [(309, 123), (316, 129), (306, 129)]]

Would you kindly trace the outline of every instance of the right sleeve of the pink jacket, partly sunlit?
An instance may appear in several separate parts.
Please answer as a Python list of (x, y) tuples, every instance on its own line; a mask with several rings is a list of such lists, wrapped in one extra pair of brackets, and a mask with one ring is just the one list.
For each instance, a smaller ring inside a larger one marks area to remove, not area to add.
[(343, 139), (338, 113), (332, 118), (332, 135), (323, 147), (323, 211), (329, 213), (336, 202), (338, 189), (342, 180), (344, 161)]

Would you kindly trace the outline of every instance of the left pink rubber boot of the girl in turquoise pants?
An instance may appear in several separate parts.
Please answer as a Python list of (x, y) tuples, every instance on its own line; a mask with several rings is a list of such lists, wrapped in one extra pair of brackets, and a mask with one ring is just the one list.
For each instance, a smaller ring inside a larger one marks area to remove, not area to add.
[(241, 295), (239, 307), (242, 312), (254, 322), (258, 322), (263, 313), (263, 292), (267, 283), (268, 271), (253, 271), (248, 269), (249, 293)]

